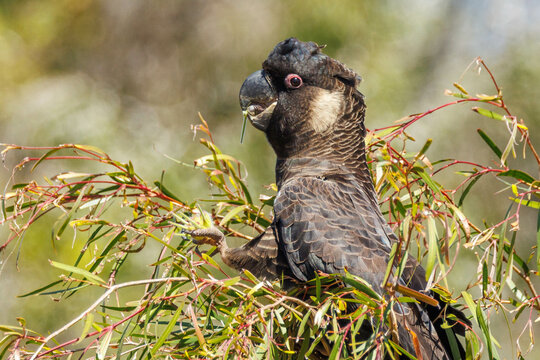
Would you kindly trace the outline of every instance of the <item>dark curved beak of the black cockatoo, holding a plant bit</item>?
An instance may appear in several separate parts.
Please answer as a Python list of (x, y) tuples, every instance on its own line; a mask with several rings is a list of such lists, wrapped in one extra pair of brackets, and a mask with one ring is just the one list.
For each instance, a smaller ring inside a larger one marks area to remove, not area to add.
[(240, 106), (244, 117), (257, 129), (266, 131), (276, 107), (277, 93), (264, 70), (249, 75), (240, 88)]

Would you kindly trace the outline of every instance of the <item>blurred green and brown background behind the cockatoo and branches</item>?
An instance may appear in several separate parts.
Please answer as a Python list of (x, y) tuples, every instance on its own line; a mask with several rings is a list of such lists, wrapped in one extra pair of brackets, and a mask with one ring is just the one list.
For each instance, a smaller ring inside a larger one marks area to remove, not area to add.
[[(200, 112), (218, 146), (245, 163), (250, 188), (258, 193), (273, 181), (274, 155), (264, 135), (250, 126), (240, 144), (238, 90), (275, 44), (290, 36), (326, 44), (327, 54), (362, 75), (368, 128), (451, 101), (444, 90), (456, 81), (470, 93), (494, 94), (486, 74), (464, 74), (480, 56), (510, 110), (525, 119), (533, 144), (539, 145), (536, 0), (0, 0), (0, 142), (97, 146), (117, 160), (131, 160), (147, 181), (165, 171), (165, 184), (182, 199), (194, 200), (209, 193), (203, 175), (165, 155), (191, 163), (206, 154), (190, 130)], [(410, 133), (418, 146), (433, 138), (430, 158), (489, 163), (489, 149), (475, 130), (487, 129), (504, 147), (507, 130), (494, 123), (464, 105), (424, 119)], [(10, 153), (3, 159), (2, 190), (11, 167), (27, 155)], [(529, 162), (522, 166), (537, 176), (534, 161)], [(55, 163), (31, 175), (18, 172), (15, 182), (68, 167), (73, 170), (71, 164)], [(477, 219), (504, 215), (508, 203), (497, 206), (492, 200), (501, 188), (486, 184), (486, 198), (471, 205)], [(523, 249), (535, 243), (536, 213), (526, 211), (519, 239)], [(11, 257), (0, 257), (0, 323), (16, 324), (16, 317), (24, 316), (34, 318), (30, 328), (47, 332), (88, 305), (88, 297), (61, 304), (16, 298), (57, 279), (48, 258), (67, 261), (73, 252), (70, 240), (50, 246), (47, 225), (11, 248)], [(3, 242), (7, 229), (0, 228), (0, 235)], [(150, 269), (134, 266), (133, 271), (140, 278)], [(49, 312), (55, 315), (43, 316)], [(494, 332), (504, 340), (501, 354), (514, 358), (515, 338), (508, 339), (505, 326)]]

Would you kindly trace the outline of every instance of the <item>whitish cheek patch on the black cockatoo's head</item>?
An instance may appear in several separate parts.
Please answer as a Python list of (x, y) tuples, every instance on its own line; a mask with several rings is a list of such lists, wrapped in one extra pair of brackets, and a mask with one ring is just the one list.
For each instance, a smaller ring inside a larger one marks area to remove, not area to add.
[(319, 89), (310, 106), (313, 130), (319, 133), (328, 130), (340, 117), (342, 104), (342, 92)]

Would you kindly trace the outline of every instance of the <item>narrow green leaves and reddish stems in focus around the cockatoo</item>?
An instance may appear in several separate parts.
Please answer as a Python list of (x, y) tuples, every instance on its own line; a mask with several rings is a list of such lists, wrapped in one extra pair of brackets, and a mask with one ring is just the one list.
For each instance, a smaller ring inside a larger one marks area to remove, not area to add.
[[(472, 95), (455, 83), (454, 90), (447, 91), (455, 100), (369, 131), (368, 161), (383, 212), (400, 239), (388, 273), (392, 265), (399, 272), (408, 256), (421, 260), (432, 289), (463, 308), (472, 320), (464, 342), (468, 358), (500, 358), (501, 339), (494, 335), (493, 324), (501, 317), (515, 334), (513, 355), (522, 357), (534, 346), (533, 323), (540, 314), (540, 256), (538, 243), (525, 252), (516, 244), (522, 214), (539, 211), (540, 181), (520, 167), (517, 158), (526, 156), (537, 167), (540, 160), (527, 125), (512, 115), (481, 59), (471, 71), (479, 69), (491, 81), (488, 95)], [(431, 139), (413, 146), (409, 126), (441, 109), (455, 111), (460, 106), (489, 119), (487, 129), (478, 129), (477, 141), (491, 152), (490, 158), (433, 159), (428, 157)], [(507, 131), (504, 143), (489, 136), (497, 127)], [(98, 169), (11, 183), (2, 196), (2, 219), (11, 235), (0, 244), (0, 251), (16, 248), (25, 232), (47, 216), (56, 219), (50, 228), (51, 245), (72, 229), (74, 247), (80, 249), (76, 258), (50, 261), (62, 273), (59, 280), (22, 297), (48, 295), (62, 304), (74, 294), (92, 294), (92, 289), (100, 294), (90, 296), (87, 303), (92, 305), (48, 335), (31, 330), (38, 319), (19, 318), (19, 326), (2, 326), (0, 355), (338, 359), (403, 353), (392, 337), (392, 305), (429, 301), (422, 294), (387, 283), (390, 296), (382, 298), (350, 274), (320, 274), (285, 292), (278, 281), (260, 282), (248, 272), (227, 269), (212, 257), (214, 249), (199, 249), (191, 242), (186, 230), (208, 226), (218, 227), (229, 238), (250, 239), (271, 222), (276, 190), (270, 184), (267, 194), (254, 195), (246, 185), (244, 165), (221, 152), (202, 117), (193, 129), (202, 134), (200, 143), (208, 154), (193, 164), (178, 163), (201, 170), (212, 189), (211, 196), (195, 202), (181, 200), (163, 176), (148, 182), (137, 173), (136, 164), (114, 160), (93, 146), (4, 146), (4, 157), (19, 151), (32, 154), (14, 173), (24, 166), (39, 169), (66, 159), (78, 169)], [(455, 182), (455, 176), (460, 181)], [(478, 185), (484, 178), (502, 184), (508, 211), (495, 221), (476, 222), (464, 205), (475, 193), (489, 199)], [(131, 257), (152, 246), (157, 247), (157, 256), (145, 257), (151, 274), (126, 277)], [(464, 256), (474, 258), (467, 269), (474, 276), (453, 289), (449, 278), (461, 270), (456, 264)], [(140, 290), (129, 292), (131, 288)], [(352, 302), (356, 309), (347, 312)], [(374, 319), (377, 331), (357, 343), (354, 334), (366, 318)]]

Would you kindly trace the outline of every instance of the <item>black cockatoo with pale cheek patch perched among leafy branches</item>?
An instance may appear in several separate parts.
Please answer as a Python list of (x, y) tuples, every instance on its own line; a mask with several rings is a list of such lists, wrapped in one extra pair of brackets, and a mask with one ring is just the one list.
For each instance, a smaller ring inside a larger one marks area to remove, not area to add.
[[(193, 235), (216, 245), (226, 264), (261, 278), (307, 281), (318, 271), (348, 271), (384, 295), (382, 281), (397, 237), (381, 214), (366, 164), (366, 106), (356, 88), (361, 78), (322, 48), (295, 38), (280, 42), (240, 90), (242, 109), (277, 155), (272, 225), (234, 249), (217, 229)], [(397, 282), (426, 291), (425, 272), (414, 259)], [(400, 331), (402, 347), (417, 353), (412, 331), (422, 359), (464, 356), (454, 337), (463, 334), (463, 326), (441, 328), (443, 313), (466, 322), (459, 311), (442, 304), (400, 308), (401, 330), (408, 329)]]

